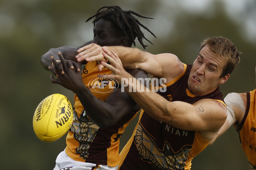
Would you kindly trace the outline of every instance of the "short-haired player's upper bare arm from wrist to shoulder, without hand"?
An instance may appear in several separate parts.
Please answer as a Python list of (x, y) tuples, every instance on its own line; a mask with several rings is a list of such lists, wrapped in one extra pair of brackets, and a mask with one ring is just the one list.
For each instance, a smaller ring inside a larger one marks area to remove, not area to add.
[(183, 63), (174, 54), (151, 54), (138, 48), (108, 47), (122, 61), (124, 68), (139, 68), (154, 77), (165, 77), (167, 82), (183, 72)]

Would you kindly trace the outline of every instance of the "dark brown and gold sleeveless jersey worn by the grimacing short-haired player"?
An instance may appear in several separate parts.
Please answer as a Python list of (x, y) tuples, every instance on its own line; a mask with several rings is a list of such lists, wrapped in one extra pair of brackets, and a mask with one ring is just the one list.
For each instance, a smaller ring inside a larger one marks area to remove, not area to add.
[[(183, 101), (195, 104), (201, 99), (214, 99), (224, 104), (219, 88), (204, 96), (194, 96), (187, 90), (191, 68), (192, 65), (184, 64), (183, 73), (165, 84), (166, 92), (157, 93), (169, 102)], [(189, 170), (192, 159), (204, 150), (209, 142), (198, 131), (173, 127), (151, 118), (141, 110), (133, 136), (120, 153), (119, 170)]]

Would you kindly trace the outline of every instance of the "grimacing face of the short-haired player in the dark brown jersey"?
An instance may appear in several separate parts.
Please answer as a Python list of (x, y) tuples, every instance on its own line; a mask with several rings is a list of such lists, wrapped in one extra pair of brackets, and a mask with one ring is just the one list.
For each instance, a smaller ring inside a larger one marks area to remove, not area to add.
[(195, 59), (189, 74), (188, 89), (195, 96), (209, 94), (229, 78), (229, 74), (220, 78), (226, 61), (210, 51), (206, 45)]

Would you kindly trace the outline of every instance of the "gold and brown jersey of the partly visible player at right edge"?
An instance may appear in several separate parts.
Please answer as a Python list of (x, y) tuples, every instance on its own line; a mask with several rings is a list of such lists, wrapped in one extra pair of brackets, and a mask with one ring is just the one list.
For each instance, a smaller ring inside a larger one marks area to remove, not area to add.
[(256, 89), (247, 92), (247, 106), (240, 123), (239, 137), (251, 169), (256, 170)]

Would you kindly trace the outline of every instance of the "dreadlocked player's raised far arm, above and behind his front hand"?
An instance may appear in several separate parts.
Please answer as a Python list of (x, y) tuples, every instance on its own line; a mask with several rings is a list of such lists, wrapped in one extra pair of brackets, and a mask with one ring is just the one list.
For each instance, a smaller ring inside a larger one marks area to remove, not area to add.
[[(88, 41), (84, 45), (88, 45), (92, 42)], [(47, 71), (49, 71), (48, 67), (52, 65), (51, 56), (53, 56), (56, 60), (60, 60), (58, 57), (58, 52), (60, 52), (65, 59), (72, 60), (76, 62), (76, 55), (78, 54), (77, 50), (84, 45), (79, 46), (78, 48), (70, 47), (70, 46), (63, 46), (59, 48), (50, 48), (47, 53), (41, 56), (41, 65)]]

